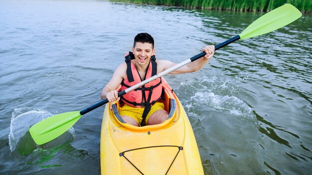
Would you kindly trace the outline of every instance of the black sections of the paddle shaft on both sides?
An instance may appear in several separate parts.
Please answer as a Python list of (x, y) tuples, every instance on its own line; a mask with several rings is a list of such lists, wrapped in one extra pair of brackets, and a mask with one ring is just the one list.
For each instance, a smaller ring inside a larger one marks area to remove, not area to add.
[[(218, 50), (218, 49), (220, 49), (220, 48), (222, 48), (222, 47), (224, 47), (224, 46), (226, 46), (226, 45), (228, 45), (228, 44), (231, 44), (232, 42), (235, 42), (235, 41), (237, 41), (237, 40), (239, 40), (239, 39), (240, 39), (240, 36), (239, 36), (239, 35), (236, 35), (236, 36), (234, 36), (233, 38), (231, 38), (231, 39), (229, 39), (229, 40), (227, 40), (227, 41), (224, 41), (223, 43), (220, 43), (220, 44), (216, 45), (216, 46), (214, 47), (214, 50), (216, 51), (216, 50)], [(198, 60), (199, 58), (201, 58), (201, 57), (203, 57), (203, 56), (205, 56), (205, 55), (206, 55), (206, 53), (205, 53), (205, 52), (202, 52), (202, 53), (200, 53), (200, 54), (198, 54), (198, 55), (195, 55), (195, 56), (193, 56), (192, 58), (190, 58), (190, 61), (193, 62), (193, 61)], [(124, 94), (126, 94), (126, 91), (125, 91), (125, 90), (119, 92), (119, 93), (118, 93), (118, 96), (120, 97), (120, 96), (123, 96)], [(102, 106), (103, 104), (108, 103), (108, 102), (109, 102), (108, 99), (105, 99), (105, 100), (103, 100), (103, 101), (100, 101), (100, 102), (98, 102), (98, 103), (96, 103), (96, 104), (94, 104), (94, 105), (92, 105), (92, 106), (90, 106), (90, 107), (88, 107), (88, 108), (86, 108), (86, 109), (80, 111), (80, 115), (84, 115), (84, 114), (86, 114), (86, 113), (88, 113), (88, 112), (90, 112), (90, 111), (92, 111), (92, 110), (94, 110), (94, 109), (96, 109), (96, 108)]]

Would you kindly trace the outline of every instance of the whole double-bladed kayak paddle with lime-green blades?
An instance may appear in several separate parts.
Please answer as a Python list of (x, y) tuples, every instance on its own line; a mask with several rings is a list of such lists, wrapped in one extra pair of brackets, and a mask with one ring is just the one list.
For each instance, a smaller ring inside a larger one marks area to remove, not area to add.
[[(282, 5), (266, 14), (258, 18), (256, 21), (254, 21), (252, 24), (250, 24), (241, 34), (221, 43), (215, 46), (215, 50), (218, 50), (232, 42), (235, 42), (239, 39), (246, 39), (255, 37), (258, 35), (262, 35), (268, 32), (271, 32), (273, 30), (279, 29), (299, 17), (301, 17), (301, 12), (294, 7), (291, 4), (285, 4)], [(205, 52), (202, 52), (192, 58), (189, 58), (182, 63), (179, 63), (133, 87), (129, 87), (121, 92), (118, 93), (118, 96), (122, 96), (138, 87), (141, 87), (153, 80), (156, 80), (159, 77), (162, 77), (182, 66), (187, 65), (188, 63), (191, 63), (201, 57), (206, 55)], [(93, 106), (90, 106), (82, 111), (73, 111), (73, 112), (66, 112), (61, 113), (58, 115), (51, 116), (47, 119), (44, 119), (37, 124), (30, 127), (29, 131), (33, 138), (33, 140), (36, 142), (36, 144), (41, 145), (44, 143), (47, 143), (56, 137), (60, 136), (64, 132), (66, 132), (70, 127), (72, 127), (82, 115), (84, 115), (87, 112), (90, 112), (91, 110), (98, 108), (102, 106), (103, 104), (108, 103), (108, 100), (105, 99), (97, 104), (94, 104)]]

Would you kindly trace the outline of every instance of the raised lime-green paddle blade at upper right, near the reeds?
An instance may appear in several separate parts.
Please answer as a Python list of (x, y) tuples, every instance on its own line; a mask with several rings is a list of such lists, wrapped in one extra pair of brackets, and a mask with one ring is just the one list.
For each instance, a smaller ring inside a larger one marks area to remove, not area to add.
[(301, 16), (302, 13), (295, 6), (286, 3), (255, 20), (239, 36), (241, 39), (246, 39), (269, 33), (292, 23)]

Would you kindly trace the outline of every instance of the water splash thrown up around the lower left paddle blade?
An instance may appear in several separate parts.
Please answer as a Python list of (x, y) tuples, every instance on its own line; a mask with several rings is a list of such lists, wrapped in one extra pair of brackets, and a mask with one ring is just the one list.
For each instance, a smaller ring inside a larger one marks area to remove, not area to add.
[(61, 139), (58, 138), (51, 143), (49, 142), (40, 146), (34, 143), (29, 134), (29, 128), (37, 122), (53, 115), (55, 114), (41, 109), (28, 107), (15, 108), (12, 112), (10, 133), (8, 135), (11, 152), (17, 148), (20, 154), (29, 155), (37, 148), (49, 149), (70, 140), (74, 134), (73, 128), (70, 128), (68, 132), (59, 137)]

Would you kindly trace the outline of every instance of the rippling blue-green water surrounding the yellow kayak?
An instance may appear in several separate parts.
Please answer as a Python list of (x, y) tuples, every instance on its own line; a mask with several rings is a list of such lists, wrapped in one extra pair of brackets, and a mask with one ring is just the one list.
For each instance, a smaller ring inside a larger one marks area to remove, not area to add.
[[(154, 37), (158, 59), (179, 63), (262, 14), (0, 1), (0, 174), (100, 174), (104, 107), (47, 145), (35, 145), (28, 128), (98, 102), (137, 33)], [(198, 72), (165, 76), (189, 116), (205, 174), (312, 173), (311, 21), (304, 15), (218, 50)]]

